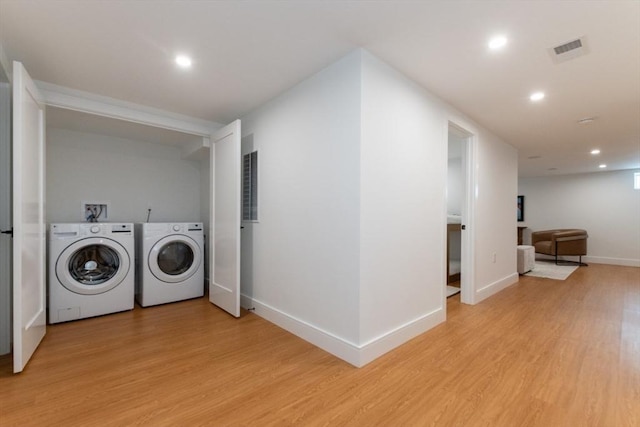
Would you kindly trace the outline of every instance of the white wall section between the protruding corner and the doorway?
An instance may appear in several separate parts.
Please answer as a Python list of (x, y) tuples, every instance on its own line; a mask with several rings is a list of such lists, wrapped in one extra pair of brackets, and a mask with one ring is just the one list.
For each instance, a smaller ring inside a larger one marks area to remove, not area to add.
[[(362, 363), (445, 319), (447, 117), (424, 89), (363, 52)], [(371, 350), (369, 350), (371, 347)]]

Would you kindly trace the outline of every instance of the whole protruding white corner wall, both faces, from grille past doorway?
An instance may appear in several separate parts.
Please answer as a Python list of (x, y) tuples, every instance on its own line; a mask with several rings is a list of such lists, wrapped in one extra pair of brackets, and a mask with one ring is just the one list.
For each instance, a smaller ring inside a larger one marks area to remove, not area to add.
[(516, 150), (358, 50), (242, 119), (243, 306), (356, 366), (442, 322), (449, 121), (473, 134), (470, 300), (516, 282)]

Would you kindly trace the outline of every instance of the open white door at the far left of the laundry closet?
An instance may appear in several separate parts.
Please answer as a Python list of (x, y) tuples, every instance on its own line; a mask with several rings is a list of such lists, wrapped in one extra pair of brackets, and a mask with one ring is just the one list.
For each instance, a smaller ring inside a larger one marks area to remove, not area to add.
[(46, 332), (44, 102), (13, 63), (13, 372), (21, 372)]

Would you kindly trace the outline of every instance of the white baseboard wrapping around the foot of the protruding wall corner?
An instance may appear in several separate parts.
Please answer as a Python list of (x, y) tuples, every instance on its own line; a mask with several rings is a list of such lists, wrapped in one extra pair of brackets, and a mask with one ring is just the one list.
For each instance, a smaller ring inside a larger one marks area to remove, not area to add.
[(240, 304), (245, 309), (252, 309), (263, 319), (358, 368), (433, 328), (446, 317), (445, 310), (440, 308), (365, 344), (357, 345), (246, 295), (240, 296)]

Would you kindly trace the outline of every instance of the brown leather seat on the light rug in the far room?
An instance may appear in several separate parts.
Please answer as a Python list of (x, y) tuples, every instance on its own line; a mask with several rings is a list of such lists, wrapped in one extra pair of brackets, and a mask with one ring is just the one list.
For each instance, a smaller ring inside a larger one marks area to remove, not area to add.
[[(534, 231), (531, 233), (531, 244), (536, 248), (536, 253), (551, 255), (558, 264), (558, 255), (578, 256), (582, 263), (582, 255), (587, 254), (587, 238), (585, 230), (575, 228), (563, 228), (557, 230)], [(565, 261), (569, 262), (569, 261)]]

